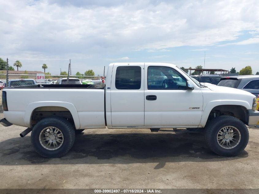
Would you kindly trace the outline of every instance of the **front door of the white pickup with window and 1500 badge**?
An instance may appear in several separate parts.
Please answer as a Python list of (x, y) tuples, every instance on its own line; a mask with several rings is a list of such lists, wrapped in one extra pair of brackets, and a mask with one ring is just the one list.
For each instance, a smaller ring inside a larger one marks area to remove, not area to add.
[(186, 89), (187, 79), (173, 67), (145, 63), (145, 127), (197, 127), (202, 116), (199, 87)]

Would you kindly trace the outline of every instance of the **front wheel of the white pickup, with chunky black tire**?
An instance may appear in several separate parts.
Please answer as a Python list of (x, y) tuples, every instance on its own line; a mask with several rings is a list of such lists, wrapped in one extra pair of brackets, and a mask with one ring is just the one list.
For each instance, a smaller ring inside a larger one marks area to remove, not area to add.
[(246, 148), (249, 133), (246, 125), (233, 116), (219, 116), (205, 127), (208, 147), (222, 156), (235, 156)]

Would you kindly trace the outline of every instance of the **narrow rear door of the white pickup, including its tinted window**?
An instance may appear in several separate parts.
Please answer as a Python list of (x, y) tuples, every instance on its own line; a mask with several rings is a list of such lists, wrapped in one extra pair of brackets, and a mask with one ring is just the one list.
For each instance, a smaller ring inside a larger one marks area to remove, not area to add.
[(111, 83), (112, 127), (143, 127), (144, 63), (115, 64)]

